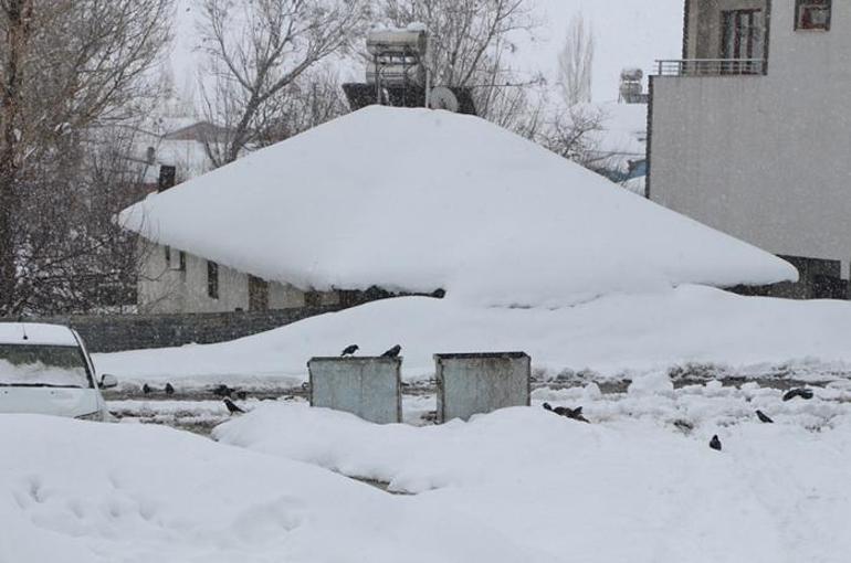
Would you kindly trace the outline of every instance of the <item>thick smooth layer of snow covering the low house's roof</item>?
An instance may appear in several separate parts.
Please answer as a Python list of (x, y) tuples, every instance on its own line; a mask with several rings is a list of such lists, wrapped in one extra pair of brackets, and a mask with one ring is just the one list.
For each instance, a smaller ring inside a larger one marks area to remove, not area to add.
[(787, 263), (475, 117), (370, 107), (125, 210), (162, 244), (302, 288), (561, 306)]

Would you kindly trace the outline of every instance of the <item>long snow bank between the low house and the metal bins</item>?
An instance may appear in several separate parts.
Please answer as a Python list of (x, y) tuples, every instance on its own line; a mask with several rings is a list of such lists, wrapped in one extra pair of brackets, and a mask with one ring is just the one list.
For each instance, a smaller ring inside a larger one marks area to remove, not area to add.
[(612, 295), (561, 309), (482, 308), (402, 297), (306, 319), (220, 344), (96, 354), (123, 382), (210, 384), (305, 381), (307, 360), (357, 343), (363, 354), (402, 346), (403, 376), (434, 372), (432, 354), (524, 350), (553, 375), (591, 370), (619, 376), (684, 363), (734, 369), (796, 361), (849, 371), (851, 304), (742, 297), (702, 286)]

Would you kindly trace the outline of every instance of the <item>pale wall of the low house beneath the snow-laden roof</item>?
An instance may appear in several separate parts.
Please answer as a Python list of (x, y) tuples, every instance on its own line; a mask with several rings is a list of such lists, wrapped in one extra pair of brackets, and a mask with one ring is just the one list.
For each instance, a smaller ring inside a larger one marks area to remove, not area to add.
[[(180, 251), (170, 249), (170, 263), (165, 246), (143, 243), (146, 259), (139, 276), (139, 310), (145, 314), (225, 312), (249, 310), (249, 275), (219, 265), (219, 297), (207, 291), (204, 258), (186, 254), (186, 269), (179, 269)], [(277, 282), (269, 284), (269, 308), (287, 309), (306, 305), (305, 291)], [(319, 294), (319, 306), (336, 306), (336, 291)]]

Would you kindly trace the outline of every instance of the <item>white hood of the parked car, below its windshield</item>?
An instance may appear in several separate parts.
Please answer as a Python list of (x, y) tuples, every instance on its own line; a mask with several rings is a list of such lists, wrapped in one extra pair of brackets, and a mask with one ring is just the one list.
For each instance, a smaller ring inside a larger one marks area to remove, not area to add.
[(82, 416), (101, 410), (95, 389), (0, 387), (0, 413)]

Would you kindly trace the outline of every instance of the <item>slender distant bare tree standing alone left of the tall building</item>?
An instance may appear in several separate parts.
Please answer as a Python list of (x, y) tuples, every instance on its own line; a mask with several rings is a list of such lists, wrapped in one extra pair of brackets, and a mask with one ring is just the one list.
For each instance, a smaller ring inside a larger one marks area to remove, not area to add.
[(574, 14), (558, 54), (558, 85), (568, 107), (591, 100), (595, 39), (581, 12)]

